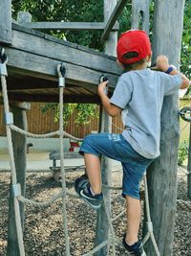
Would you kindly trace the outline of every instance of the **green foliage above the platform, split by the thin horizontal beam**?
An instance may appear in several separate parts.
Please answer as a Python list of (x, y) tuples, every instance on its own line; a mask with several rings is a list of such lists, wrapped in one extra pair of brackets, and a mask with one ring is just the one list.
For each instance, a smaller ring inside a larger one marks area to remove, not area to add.
[[(71, 21), (71, 22), (102, 22), (103, 1), (96, 0), (14, 0), (12, 13), (16, 19), (19, 11), (30, 12), (32, 21)], [(46, 32), (47, 33), (47, 32)], [(101, 32), (65, 31), (51, 32), (60, 38), (88, 46), (96, 50), (103, 50), (100, 42)]]

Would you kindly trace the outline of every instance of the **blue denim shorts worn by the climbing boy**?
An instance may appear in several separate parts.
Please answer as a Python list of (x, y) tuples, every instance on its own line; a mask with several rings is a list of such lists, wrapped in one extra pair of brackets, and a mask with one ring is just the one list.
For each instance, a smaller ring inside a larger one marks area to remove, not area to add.
[(96, 133), (87, 135), (80, 147), (81, 154), (105, 155), (121, 162), (123, 170), (122, 196), (139, 199), (139, 183), (153, 159), (138, 154), (122, 134)]

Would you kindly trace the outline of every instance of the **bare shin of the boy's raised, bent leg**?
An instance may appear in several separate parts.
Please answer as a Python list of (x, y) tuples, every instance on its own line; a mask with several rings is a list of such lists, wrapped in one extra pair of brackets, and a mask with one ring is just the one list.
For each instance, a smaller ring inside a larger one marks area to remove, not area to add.
[(100, 160), (95, 154), (84, 153), (86, 173), (94, 194), (101, 193)]

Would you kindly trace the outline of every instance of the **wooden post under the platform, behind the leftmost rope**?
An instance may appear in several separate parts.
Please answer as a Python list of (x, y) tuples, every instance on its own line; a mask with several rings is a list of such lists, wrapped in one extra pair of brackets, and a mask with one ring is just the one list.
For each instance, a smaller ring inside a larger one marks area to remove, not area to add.
[[(17, 126), (18, 128), (27, 130), (26, 109), (30, 109), (30, 105), (23, 103), (23, 105), (19, 105), (19, 106), (14, 105), (14, 107), (12, 107), (14, 125)], [(20, 183), (21, 193), (23, 196), (25, 196), (27, 136), (20, 134), (16, 131), (12, 131), (12, 144), (13, 144), (17, 182)], [(19, 247), (17, 244), (13, 199), (14, 198), (12, 195), (12, 191), (10, 190), (7, 255), (20, 256)], [(24, 205), (21, 202), (20, 202), (20, 216), (21, 216), (21, 224), (23, 227)]]

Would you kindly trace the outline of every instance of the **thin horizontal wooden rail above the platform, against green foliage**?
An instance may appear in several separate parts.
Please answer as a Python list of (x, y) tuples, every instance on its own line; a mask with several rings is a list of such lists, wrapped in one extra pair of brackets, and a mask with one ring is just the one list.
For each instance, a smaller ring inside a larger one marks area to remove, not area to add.
[[(103, 22), (22, 22), (22, 26), (35, 30), (70, 30), (70, 31), (99, 31), (104, 30)], [(119, 25), (116, 24), (112, 30), (117, 31)]]

